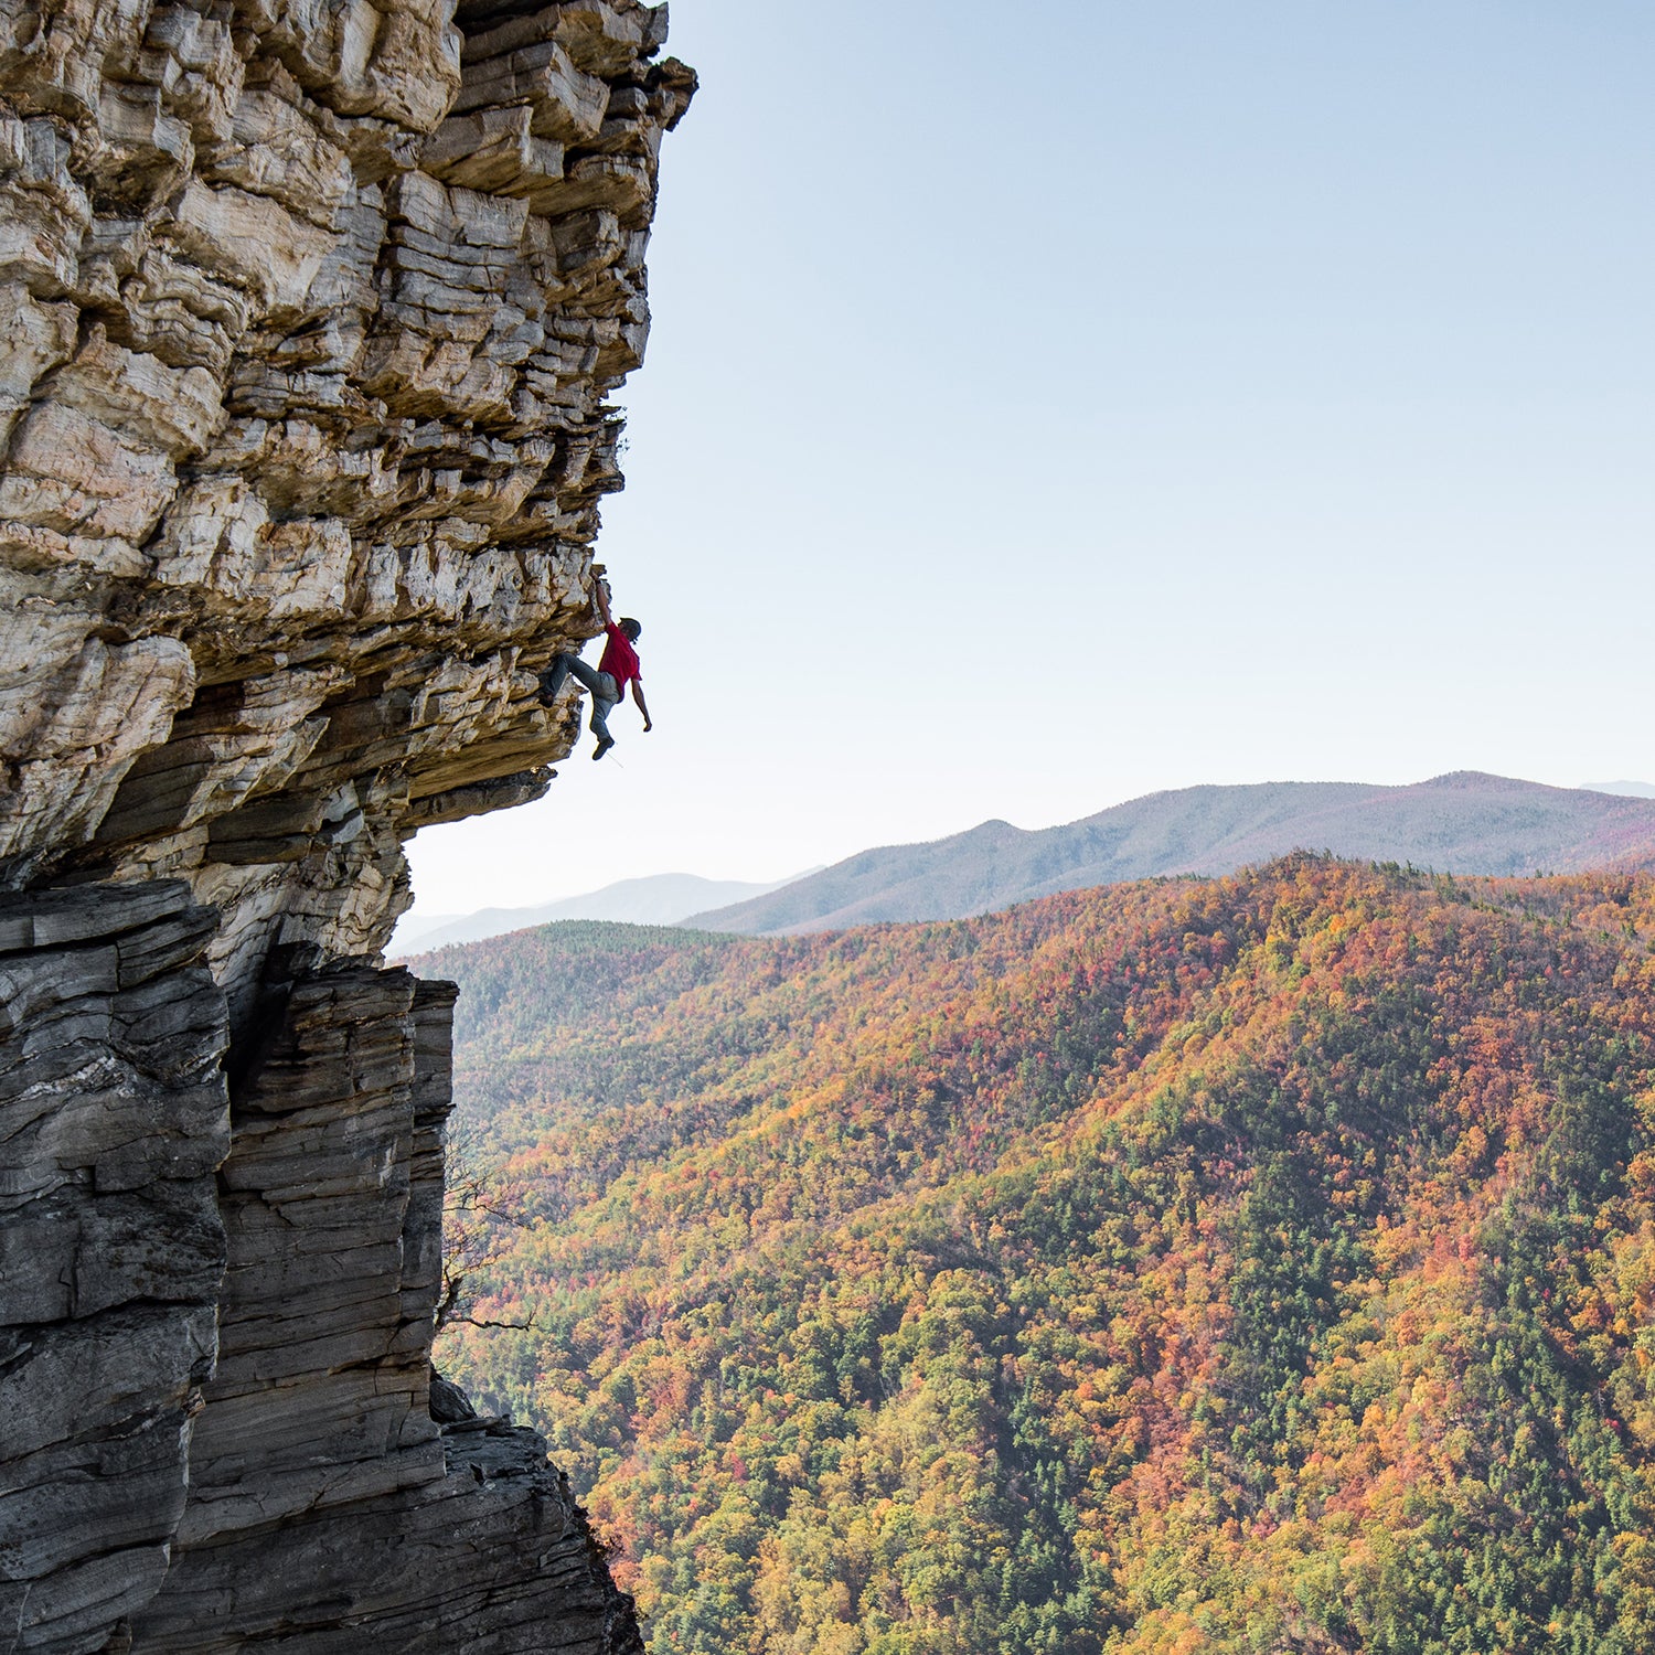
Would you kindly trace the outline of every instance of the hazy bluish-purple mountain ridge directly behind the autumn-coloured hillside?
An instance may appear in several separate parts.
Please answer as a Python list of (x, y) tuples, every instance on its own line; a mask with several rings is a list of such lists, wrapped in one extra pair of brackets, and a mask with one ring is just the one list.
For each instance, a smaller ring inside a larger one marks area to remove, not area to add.
[(1150, 793), (1061, 828), (988, 821), (930, 844), (862, 851), (768, 895), (690, 915), (743, 935), (986, 914), (1059, 890), (1220, 875), (1288, 851), (1445, 874), (1655, 867), (1655, 799), (1461, 770), (1410, 786), (1266, 781)]

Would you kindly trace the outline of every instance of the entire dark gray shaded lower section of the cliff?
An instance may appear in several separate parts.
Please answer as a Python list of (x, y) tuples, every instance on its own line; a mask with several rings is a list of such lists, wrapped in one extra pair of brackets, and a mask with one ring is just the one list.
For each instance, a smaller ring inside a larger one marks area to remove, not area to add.
[(453, 988), (225, 1084), (182, 882), (0, 900), (0, 1652), (640, 1655), (533, 1432), (430, 1408)]

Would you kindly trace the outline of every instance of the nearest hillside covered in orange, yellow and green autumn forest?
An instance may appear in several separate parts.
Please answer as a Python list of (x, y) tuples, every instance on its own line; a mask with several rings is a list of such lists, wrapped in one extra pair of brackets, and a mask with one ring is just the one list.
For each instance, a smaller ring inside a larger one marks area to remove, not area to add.
[(1655, 882), (1294, 857), (458, 978), (455, 1377), (654, 1655), (1655, 1648)]

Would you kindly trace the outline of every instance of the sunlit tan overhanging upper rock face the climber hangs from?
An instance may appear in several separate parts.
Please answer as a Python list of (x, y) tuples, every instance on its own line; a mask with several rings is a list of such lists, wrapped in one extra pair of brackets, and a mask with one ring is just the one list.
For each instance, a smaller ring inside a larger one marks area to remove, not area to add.
[(664, 38), (637, 0), (10, 0), (0, 885), (184, 879), (240, 980), (371, 953), (401, 836), (543, 788), (693, 89)]

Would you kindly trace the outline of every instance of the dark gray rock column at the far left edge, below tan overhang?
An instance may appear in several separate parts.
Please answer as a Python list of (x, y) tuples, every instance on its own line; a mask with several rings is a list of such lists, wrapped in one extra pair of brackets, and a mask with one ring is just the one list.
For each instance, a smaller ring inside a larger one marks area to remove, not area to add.
[(167, 1571), (225, 1266), (213, 922), (0, 899), (0, 1650), (101, 1650)]

